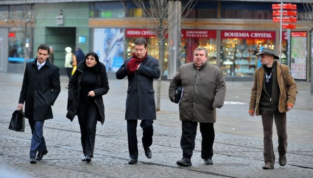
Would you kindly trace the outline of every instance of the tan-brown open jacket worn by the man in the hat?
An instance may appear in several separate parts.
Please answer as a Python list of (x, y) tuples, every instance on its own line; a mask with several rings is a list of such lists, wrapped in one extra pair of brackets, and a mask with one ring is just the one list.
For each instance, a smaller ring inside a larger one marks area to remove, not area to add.
[[(283, 64), (280, 65), (278, 62), (274, 63), (277, 63), (277, 82), (280, 92), (278, 110), (279, 112), (283, 113), (287, 112), (287, 105), (293, 107), (295, 104), (297, 85), (288, 66)], [(259, 102), (262, 94), (264, 72), (264, 67), (259, 67), (254, 72), (254, 82), (251, 90), (249, 112), (255, 111), (255, 115), (261, 115)]]

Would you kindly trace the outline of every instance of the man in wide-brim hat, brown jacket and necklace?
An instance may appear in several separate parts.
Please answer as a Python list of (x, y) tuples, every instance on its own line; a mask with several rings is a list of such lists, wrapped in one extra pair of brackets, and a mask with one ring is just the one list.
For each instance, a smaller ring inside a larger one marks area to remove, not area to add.
[(255, 113), (262, 117), (265, 161), (263, 169), (274, 169), (273, 119), (278, 135), (279, 165), (285, 166), (287, 163), (286, 112), (295, 104), (297, 85), (289, 67), (274, 61), (279, 57), (275, 55), (273, 49), (263, 48), (257, 55), (261, 55), (262, 67), (254, 72), (249, 114), (254, 116)]

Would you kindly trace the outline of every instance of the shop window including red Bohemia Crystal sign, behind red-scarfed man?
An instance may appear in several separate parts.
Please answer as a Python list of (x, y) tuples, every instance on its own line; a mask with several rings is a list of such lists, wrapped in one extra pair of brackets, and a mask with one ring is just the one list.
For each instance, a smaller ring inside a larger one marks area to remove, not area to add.
[[(144, 38), (147, 41), (147, 53), (156, 59), (159, 59), (158, 55), (158, 39), (157, 37), (147, 29), (126, 29), (126, 58), (129, 58), (134, 53), (134, 42), (137, 38)], [(167, 38), (164, 40), (164, 61), (163, 61), (163, 73), (167, 72), (168, 64), (168, 44)]]

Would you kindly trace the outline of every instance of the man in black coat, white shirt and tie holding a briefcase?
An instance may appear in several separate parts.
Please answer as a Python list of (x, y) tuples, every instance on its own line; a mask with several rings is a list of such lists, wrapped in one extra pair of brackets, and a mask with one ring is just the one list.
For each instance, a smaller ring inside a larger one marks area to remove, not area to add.
[[(37, 163), (48, 153), (43, 136), (43, 126), (46, 119), (52, 119), (52, 109), (57, 99), (60, 87), (59, 67), (49, 62), (49, 46), (40, 45), (37, 58), (27, 63), (18, 109), (23, 109), (25, 102), (25, 117), (33, 134), (30, 144), (30, 163)], [(38, 155), (36, 153), (38, 151)]]

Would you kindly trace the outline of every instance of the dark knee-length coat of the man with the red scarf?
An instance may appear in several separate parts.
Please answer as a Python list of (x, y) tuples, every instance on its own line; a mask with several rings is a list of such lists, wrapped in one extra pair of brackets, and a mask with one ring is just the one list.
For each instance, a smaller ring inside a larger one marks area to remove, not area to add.
[(116, 72), (117, 79), (128, 78), (125, 119), (154, 120), (156, 103), (153, 79), (160, 77), (158, 60), (148, 55), (138, 70), (128, 74), (125, 66), (131, 59), (127, 58)]

